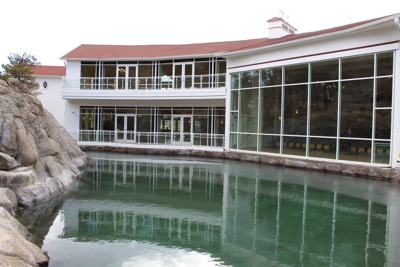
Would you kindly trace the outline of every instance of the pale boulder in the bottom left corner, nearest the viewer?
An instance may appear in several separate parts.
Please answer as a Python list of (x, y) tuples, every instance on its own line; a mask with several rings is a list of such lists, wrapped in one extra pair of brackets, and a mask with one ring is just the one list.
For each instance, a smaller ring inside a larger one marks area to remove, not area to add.
[(3, 207), (0, 207), (0, 233), (0, 263), (2, 266), (48, 264), (50, 257), (48, 257), (47, 251), (30, 243), (32, 235)]

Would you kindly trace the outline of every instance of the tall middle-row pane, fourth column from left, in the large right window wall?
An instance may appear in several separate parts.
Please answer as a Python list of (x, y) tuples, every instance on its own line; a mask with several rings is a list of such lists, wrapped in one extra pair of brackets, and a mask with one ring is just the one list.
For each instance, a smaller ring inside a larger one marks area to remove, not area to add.
[(284, 87), (283, 133), (306, 135), (308, 85)]

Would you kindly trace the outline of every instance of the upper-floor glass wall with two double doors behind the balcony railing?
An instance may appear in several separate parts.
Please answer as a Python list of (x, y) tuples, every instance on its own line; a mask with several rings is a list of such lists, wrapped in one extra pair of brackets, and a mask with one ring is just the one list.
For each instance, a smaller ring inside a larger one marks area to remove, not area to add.
[[(81, 61), (80, 89), (168, 89), (173, 86), (174, 76), (176, 89), (225, 87), (225, 74), (226, 59), (220, 57), (161, 61)], [(163, 76), (170, 80), (162, 81)]]

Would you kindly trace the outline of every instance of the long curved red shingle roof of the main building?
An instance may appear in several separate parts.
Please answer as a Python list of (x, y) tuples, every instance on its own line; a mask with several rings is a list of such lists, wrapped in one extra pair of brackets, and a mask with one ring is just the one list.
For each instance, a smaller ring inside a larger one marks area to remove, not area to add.
[(213, 55), (223, 52), (235, 52), (258, 47), (265, 47), (272, 44), (288, 42), (318, 36), (322, 34), (347, 30), (363, 24), (367, 24), (382, 18), (393, 15), (373, 18), (352, 24), (317, 30), (314, 32), (305, 32), (299, 34), (290, 34), (281, 38), (259, 38), (251, 40), (240, 40), (230, 42), (208, 42), (198, 44), (161, 44), (161, 45), (99, 45), (99, 44), (81, 44), (76, 49), (70, 51), (62, 59), (142, 59), (158, 57), (174, 57), (185, 55)]

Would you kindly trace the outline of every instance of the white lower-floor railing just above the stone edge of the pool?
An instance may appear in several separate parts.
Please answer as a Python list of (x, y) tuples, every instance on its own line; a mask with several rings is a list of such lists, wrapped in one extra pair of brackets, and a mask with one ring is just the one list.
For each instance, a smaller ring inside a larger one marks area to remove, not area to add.
[(207, 146), (214, 148), (222, 148), (224, 146), (223, 134), (80, 130), (72, 132), (70, 135), (80, 142)]

